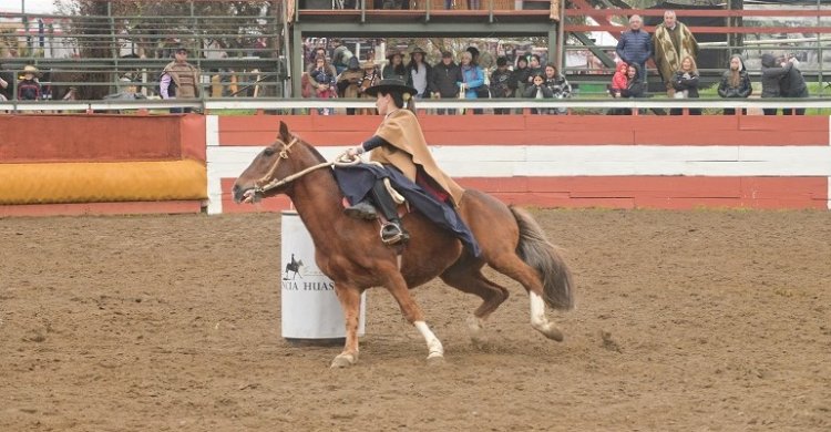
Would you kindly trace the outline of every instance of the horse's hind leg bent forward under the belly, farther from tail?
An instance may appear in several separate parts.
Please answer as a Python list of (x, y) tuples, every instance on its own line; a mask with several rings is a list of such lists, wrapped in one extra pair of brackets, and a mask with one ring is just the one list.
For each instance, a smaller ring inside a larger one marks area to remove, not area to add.
[(468, 329), (473, 343), (485, 342), (484, 321), (496, 308), (507, 300), (507, 289), (488, 280), (482, 275), (483, 263), (473, 258), (462, 258), (444, 270), (441, 279), (460, 291), (473, 294), (482, 299), (482, 305), (468, 319)]

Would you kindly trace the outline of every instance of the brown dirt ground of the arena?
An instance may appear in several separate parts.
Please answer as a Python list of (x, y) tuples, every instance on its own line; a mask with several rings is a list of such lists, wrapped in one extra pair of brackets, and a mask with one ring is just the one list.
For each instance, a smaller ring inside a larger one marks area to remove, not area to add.
[(279, 215), (0, 219), (0, 431), (831, 430), (831, 213), (534, 214), (564, 342), (435, 281), (444, 366), (375, 289), (346, 370), (280, 336)]

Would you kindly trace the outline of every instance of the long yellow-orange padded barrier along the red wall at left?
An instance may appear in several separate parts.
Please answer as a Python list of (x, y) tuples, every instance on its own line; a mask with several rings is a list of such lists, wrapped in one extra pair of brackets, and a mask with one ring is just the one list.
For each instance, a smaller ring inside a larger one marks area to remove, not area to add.
[(0, 164), (0, 204), (205, 198), (198, 161)]

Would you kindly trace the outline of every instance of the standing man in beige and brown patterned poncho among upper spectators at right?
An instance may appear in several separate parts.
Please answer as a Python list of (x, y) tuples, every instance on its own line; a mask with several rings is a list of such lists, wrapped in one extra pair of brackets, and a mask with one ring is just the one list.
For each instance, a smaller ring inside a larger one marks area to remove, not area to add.
[[(664, 22), (655, 28), (653, 35), (653, 48), (655, 50), (655, 64), (658, 66), (658, 73), (664, 80), (667, 89), (667, 96), (675, 95), (673, 86), (673, 76), (681, 66), (681, 60), (687, 55), (693, 60), (698, 56), (698, 42), (687, 25), (678, 22), (675, 11), (664, 12)], [(639, 65), (638, 65), (639, 68)], [(639, 71), (644, 74), (644, 71)]]

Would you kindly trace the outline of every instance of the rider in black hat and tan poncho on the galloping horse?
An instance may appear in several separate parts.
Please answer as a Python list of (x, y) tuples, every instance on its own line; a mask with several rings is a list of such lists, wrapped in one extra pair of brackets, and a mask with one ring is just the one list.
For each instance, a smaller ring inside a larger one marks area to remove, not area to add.
[(464, 189), (439, 168), (413, 112), (412, 96), (417, 90), (400, 80), (383, 80), (367, 89), (367, 93), (376, 96), (376, 107), (383, 121), (375, 135), (345, 152), (349, 158), (371, 152), (372, 163), (335, 169), (351, 205), (343, 212), (370, 220), (379, 218), (380, 213), (387, 220), (381, 227), (381, 240), (386, 245), (407, 243), (410, 236), (386, 186), (384, 178), (389, 178), (419, 214), (448, 229), (472, 255), (479, 256), (476, 240), (455, 210), (462, 204)]

